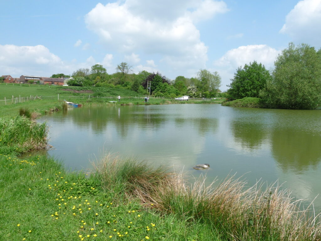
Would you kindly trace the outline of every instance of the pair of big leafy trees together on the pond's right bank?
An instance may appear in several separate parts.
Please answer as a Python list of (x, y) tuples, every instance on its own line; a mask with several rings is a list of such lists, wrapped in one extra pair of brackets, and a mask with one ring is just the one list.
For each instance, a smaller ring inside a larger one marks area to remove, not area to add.
[(266, 108), (316, 109), (321, 104), (321, 49), (291, 42), (272, 70), (253, 61), (237, 69), (228, 87), (230, 100), (256, 97)]

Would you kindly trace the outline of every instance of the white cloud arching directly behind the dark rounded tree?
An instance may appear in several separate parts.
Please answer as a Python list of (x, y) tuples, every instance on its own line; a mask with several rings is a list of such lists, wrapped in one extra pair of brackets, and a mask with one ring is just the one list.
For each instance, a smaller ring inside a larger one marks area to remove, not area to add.
[(281, 51), (273, 49), (265, 44), (240, 46), (237, 49), (227, 51), (220, 59), (214, 62), (214, 69), (222, 77), (222, 90), (226, 90), (226, 85), (230, 84), (236, 69), (244, 67), (254, 60), (262, 63), (266, 69), (273, 67), (277, 55)]

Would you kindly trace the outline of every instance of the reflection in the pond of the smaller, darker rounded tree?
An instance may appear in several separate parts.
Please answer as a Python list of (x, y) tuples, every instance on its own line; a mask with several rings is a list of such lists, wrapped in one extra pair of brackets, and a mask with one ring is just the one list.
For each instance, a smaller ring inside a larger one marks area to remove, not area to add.
[(234, 141), (243, 148), (258, 149), (266, 138), (266, 131), (262, 123), (232, 121), (231, 130)]

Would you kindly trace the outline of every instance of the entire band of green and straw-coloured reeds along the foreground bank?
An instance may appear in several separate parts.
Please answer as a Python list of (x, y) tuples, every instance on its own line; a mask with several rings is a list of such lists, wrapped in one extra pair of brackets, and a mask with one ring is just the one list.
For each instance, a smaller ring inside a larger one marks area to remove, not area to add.
[(300, 210), (299, 201), (278, 183), (247, 187), (232, 176), (208, 186), (200, 177), (188, 185), (182, 173), (110, 155), (96, 170), (102, 186), (117, 196), (127, 194), (161, 213), (204, 223), (224, 240), (321, 240), (320, 215)]

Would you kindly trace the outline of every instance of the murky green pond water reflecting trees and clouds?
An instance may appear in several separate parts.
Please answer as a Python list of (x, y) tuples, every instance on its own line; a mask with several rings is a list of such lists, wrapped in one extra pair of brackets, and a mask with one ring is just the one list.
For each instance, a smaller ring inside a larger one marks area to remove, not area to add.
[[(278, 180), (311, 202), (321, 193), (321, 111), (218, 104), (100, 106), (43, 116), (48, 151), (68, 169), (90, 170), (108, 152), (167, 165), (207, 182), (244, 175), (249, 185)], [(195, 164), (208, 163), (203, 171)], [(321, 210), (321, 197), (314, 201)]]

